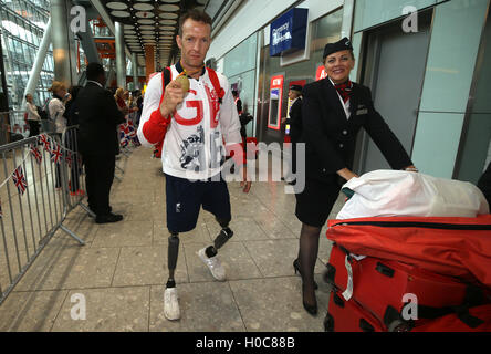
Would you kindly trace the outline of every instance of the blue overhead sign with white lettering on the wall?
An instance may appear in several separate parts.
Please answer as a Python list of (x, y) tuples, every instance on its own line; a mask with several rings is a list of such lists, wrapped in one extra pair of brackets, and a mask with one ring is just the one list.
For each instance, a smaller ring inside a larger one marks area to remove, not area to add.
[(271, 23), (270, 55), (305, 49), (309, 9), (292, 9)]

